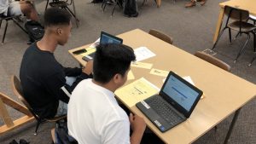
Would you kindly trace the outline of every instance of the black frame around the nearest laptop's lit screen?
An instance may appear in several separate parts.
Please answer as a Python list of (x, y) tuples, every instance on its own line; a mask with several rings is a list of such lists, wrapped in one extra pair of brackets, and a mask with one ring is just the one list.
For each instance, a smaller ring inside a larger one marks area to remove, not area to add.
[[(183, 82), (183, 84), (186, 84), (187, 86), (189, 86), (189, 88), (194, 89), (198, 95), (195, 99), (195, 102), (193, 103), (193, 105), (190, 107), (189, 111), (187, 111), (185, 108), (183, 108), (181, 105), (179, 105), (176, 101), (174, 101), (171, 97), (169, 97), (164, 91), (163, 89), (166, 86), (167, 80), (168, 78), (170, 78), (171, 76), (174, 76), (175, 78), (177, 78), (178, 80), (180, 80), (181, 82)], [(169, 72), (165, 83), (163, 84), (162, 88), (160, 89), (160, 96), (166, 100), (168, 103), (170, 103), (172, 105), (172, 107), (176, 108), (178, 112), (181, 112), (184, 117), (189, 118), (189, 116), (191, 115), (191, 113), (193, 112), (193, 110), (195, 109), (196, 104), (198, 103), (198, 101), (201, 98), (202, 95), (202, 91), (201, 89), (196, 88), (194, 85), (190, 84), (189, 82), (187, 82), (186, 80), (184, 80), (183, 78), (181, 78), (180, 76), (178, 76), (176, 73), (174, 72)]]

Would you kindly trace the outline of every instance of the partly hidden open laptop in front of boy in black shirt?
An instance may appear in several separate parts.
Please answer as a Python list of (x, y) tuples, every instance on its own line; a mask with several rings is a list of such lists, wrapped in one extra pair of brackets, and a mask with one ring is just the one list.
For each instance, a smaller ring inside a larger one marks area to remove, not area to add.
[[(100, 43), (105, 44), (105, 43), (123, 43), (123, 39), (119, 37), (115, 37), (107, 32), (101, 32), (101, 38), (100, 38)], [(85, 61), (88, 60), (93, 60), (93, 57), (95, 55), (95, 52), (91, 53), (90, 55), (85, 55), (82, 59)]]

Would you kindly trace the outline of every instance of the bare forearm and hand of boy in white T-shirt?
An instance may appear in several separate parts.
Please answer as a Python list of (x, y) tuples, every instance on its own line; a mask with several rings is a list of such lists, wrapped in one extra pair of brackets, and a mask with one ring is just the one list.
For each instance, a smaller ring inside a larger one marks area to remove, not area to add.
[(130, 113), (129, 117), (131, 123), (131, 144), (140, 144), (146, 129), (146, 123), (143, 118)]

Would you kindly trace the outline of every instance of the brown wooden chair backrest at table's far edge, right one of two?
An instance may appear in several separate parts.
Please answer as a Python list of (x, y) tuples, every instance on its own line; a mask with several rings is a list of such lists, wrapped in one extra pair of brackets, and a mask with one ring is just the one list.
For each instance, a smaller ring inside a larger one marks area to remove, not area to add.
[(201, 58), (202, 60), (206, 60), (207, 62), (211, 63), (212, 65), (218, 66), (219, 68), (224, 69), (225, 71), (230, 72), (230, 66), (226, 64), (222, 60), (218, 60), (217, 58), (213, 57), (212, 55), (208, 55), (204, 52), (197, 51), (195, 56)]

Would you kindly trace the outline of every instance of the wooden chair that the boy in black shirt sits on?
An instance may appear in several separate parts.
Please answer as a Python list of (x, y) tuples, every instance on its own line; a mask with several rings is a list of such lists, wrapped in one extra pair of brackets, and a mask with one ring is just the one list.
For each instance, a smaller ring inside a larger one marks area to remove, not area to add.
[(11, 77), (11, 84), (12, 84), (12, 88), (14, 90), (15, 95), (18, 96), (20, 101), (25, 105), (25, 107), (29, 110), (29, 112), (32, 113), (33, 117), (36, 118), (36, 120), (38, 122), (34, 135), (37, 135), (38, 127), (39, 127), (40, 124), (44, 124), (44, 123), (47, 123), (47, 122), (57, 122), (61, 119), (67, 118), (67, 115), (63, 115), (63, 116), (59, 116), (59, 117), (55, 117), (55, 118), (39, 118), (38, 115), (33, 111), (33, 108), (29, 105), (29, 103), (24, 98), (23, 92), (22, 92), (22, 89), (21, 89), (20, 80), (16, 76), (12, 76)]

